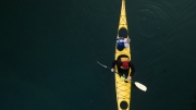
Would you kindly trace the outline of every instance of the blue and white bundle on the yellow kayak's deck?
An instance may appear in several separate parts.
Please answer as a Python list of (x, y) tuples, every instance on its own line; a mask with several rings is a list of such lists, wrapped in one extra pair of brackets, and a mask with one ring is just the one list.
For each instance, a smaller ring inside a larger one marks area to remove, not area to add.
[(130, 38), (119, 37), (117, 39), (117, 48), (119, 51), (122, 51), (124, 48), (127, 48), (130, 46)]

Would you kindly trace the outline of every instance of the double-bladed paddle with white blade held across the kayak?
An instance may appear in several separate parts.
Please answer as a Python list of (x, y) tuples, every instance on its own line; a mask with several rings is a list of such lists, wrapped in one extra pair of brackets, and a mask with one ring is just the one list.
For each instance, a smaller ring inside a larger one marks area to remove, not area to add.
[[(108, 68), (107, 65), (103, 65), (101, 64), (100, 62), (97, 61), (98, 64), (100, 64), (101, 66), (108, 69), (108, 70), (111, 70), (110, 68)], [(118, 73), (118, 72), (114, 72), (114, 73)], [(126, 81), (126, 80), (125, 80)], [(147, 87), (138, 82), (134, 82), (133, 80), (131, 80), (130, 82), (134, 83), (139, 89), (146, 91), (147, 90)]]

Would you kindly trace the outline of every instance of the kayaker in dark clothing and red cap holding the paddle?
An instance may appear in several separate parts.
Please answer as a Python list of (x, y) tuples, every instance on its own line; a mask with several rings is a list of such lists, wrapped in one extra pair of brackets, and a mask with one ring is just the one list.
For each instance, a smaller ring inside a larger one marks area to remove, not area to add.
[[(121, 54), (118, 57), (118, 60), (114, 60), (111, 64), (111, 72), (114, 72), (114, 66), (117, 65), (119, 75), (121, 77), (126, 77), (126, 80), (131, 81), (132, 76), (135, 73), (135, 66), (132, 61), (130, 61), (128, 57), (125, 54)], [(130, 69), (132, 70), (131, 74)]]

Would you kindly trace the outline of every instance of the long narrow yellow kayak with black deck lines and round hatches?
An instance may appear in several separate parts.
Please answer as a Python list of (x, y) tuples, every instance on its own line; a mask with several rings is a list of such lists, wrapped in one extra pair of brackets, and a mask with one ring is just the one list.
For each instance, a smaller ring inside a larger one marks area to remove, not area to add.
[[(118, 28), (118, 37), (130, 38), (127, 22), (126, 22), (125, 0), (122, 0), (120, 22), (119, 22), (119, 28)], [(131, 60), (131, 47), (127, 47), (127, 48), (119, 51), (115, 46), (115, 60), (121, 54), (126, 54)], [(115, 66), (115, 71), (118, 71), (117, 66)], [(131, 70), (130, 70), (128, 74), (131, 74)], [(119, 76), (119, 74), (115, 74), (115, 91), (117, 91), (118, 110), (130, 110), (130, 108), (131, 108), (131, 83), (125, 83)]]

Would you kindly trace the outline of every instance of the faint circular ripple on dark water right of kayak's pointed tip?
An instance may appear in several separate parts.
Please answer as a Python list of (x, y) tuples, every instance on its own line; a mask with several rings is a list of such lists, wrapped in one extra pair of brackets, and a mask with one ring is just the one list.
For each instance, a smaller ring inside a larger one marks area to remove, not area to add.
[(169, 15), (159, 7), (145, 4), (136, 12), (136, 30), (146, 37), (167, 35), (171, 29)]

